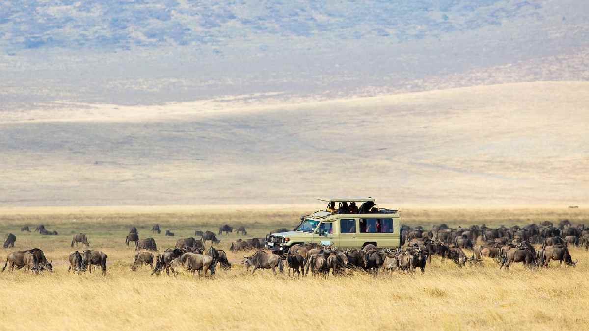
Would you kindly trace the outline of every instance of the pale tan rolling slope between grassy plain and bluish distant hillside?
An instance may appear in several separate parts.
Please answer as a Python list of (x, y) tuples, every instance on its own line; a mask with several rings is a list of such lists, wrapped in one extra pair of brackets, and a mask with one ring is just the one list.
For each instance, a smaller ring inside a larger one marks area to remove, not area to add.
[[(1, 204), (579, 204), (589, 83), (384, 95), (174, 120), (0, 124)], [(140, 112), (141, 107), (137, 107)], [(127, 109), (125, 111), (131, 111)]]

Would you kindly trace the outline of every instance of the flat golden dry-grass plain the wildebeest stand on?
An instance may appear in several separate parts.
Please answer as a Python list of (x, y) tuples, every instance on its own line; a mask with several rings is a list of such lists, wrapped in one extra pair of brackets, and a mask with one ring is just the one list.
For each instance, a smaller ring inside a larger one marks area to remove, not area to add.
[[(499, 270), (494, 260), (459, 268), (434, 257), (425, 273), (348, 272), (345, 276), (274, 276), (270, 270), (246, 272), (244, 252), (229, 251), (235, 233), (221, 236), (231, 270), (214, 277), (151, 276), (148, 266), (130, 270), (135, 250), (125, 246), (130, 226), (141, 239), (154, 237), (158, 249), (194, 230), (215, 231), (221, 224), (243, 225), (246, 237), (263, 237), (278, 227), (294, 227), (301, 214), (317, 206), (178, 206), (4, 208), (0, 233), (16, 235), (15, 249), (39, 247), (53, 272), (0, 274), (2, 329), (587, 329), (589, 253), (571, 247), (577, 267)], [(569, 219), (587, 223), (589, 214), (565, 207), (400, 208), (411, 226), (447, 223), (487, 226)], [(21, 233), (42, 223), (59, 236)], [(161, 234), (150, 229), (158, 223)], [(165, 237), (171, 230), (174, 237)], [(87, 233), (91, 249), (107, 254), (107, 274), (68, 273), (71, 236)], [(208, 247), (208, 245), (207, 245)], [(466, 254), (470, 256), (470, 251)], [(32, 316), (34, 312), (34, 316)], [(82, 318), (81, 316), (85, 316)]]

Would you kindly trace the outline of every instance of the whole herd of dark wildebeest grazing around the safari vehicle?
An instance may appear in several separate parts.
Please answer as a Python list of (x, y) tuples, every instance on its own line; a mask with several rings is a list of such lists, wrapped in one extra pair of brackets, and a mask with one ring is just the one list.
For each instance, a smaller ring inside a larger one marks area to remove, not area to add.
[[(153, 233), (160, 233), (160, 226), (155, 224), (151, 230)], [(277, 229), (273, 232), (283, 230), (286, 229)], [(22, 227), (21, 231), (30, 232), (28, 226)], [(42, 224), (39, 224), (35, 231), (41, 234), (57, 234), (57, 231), (48, 231)], [(242, 235), (247, 234), (243, 226), (239, 227), (238, 231)], [(173, 236), (169, 234), (169, 230), (166, 232), (167, 236)], [(219, 228), (219, 235), (231, 232), (233, 227), (229, 224)], [(201, 272), (204, 272), (205, 276), (207, 273), (215, 274), (217, 265), (220, 265), (221, 269), (231, 269), (227, 253), (213, 247), (213, 244), (220, 243), (216, 234), (199, 230), (196, 230), (195, 234), (200, 234), (200, 239), (178, 239), (174, 248), (166, 249), (154, 256), (153, 252), (157, 251), (155, 240), (152, 237), (139, 239), (137, 228), (131, 227), (125, 243), (128, 246), (130, 241), (134, 241), (135, 250), (138, 251), (131, 264), (131, 270), (135, 271), (143, 265), (148, 265), (151, 274), (160, 274), (164, 270), (167, 274), (170, 274), (170, 270), (177, 274), (178, 269), (184, 269), (193, 275), (198, 273), (200, 277)], [(4, 248), (14, 247), (15, 241), (16, 236), (8, 234)], [(211, 243), (208, 249), (207, 241)], [(252, 267), (252, 273), (257, 269), (272, 269), (274, 274), (282, 273), (286, 264), (289, 276), (291, 272), (293, 275), (303, 276), (309, 272), (313, 275), (336, 276), (350, 270), (364, 270), (375, 275), (379, 272), (415, 272), (416, 269), (423, 273), (434, 256), (439, 256), (442, 263), (446, 259), (451, 260), (458, 267), (464, 267), (467, 263), (471, 267), (477, 266), (484, 258), (494, 259), (499, 269), (507, 269), (511, 263), (522, 263), (527, 267), (548, 267), (550, 261), (560, 264), (564, 262), (566, 266), (574, 267), (577, 261), (573, 261), (568, 247), (574, 245), (589, 249), (589, 228), (585, 228), (584, 224), (574, 226), (568, 220), (562, 220), (556, 226), (550, 221), (531, 223), (523, 227), (497, 228), (487, 227), (485, 224), (458, 229), (438, 224), (429, 230), (421, 226), (402, 226), (401, 241), (401, 246), (396, 248), (367, 244), (362, 249), (346, 250), (309, 243), (294, 244), (284, 256), (279, 256), (264, 249), (264, 239), (252, 238), (234, 241), (230, 250), (252, 252), (243, 256), (241, 261), (246, 270)], [(85, 233), (72, 236), (71, 247), (80, 243), (84, 247), (90, 246)], [(467, 249), (470, 250), (468, 254), (465, 253)], [(81, 253), (70, 253), (68, 272), (80, 273), (90, 270), (92, 273), (94, 266), (100, 267), (102, 274), (107, 272), (107, 255), (104, 252), (85, 249)], [(51, 262), (38, 248), (9, 253), (2, 272), (7, 267), (9, 270), (25, 268), (33, 273), (52, 270)]]

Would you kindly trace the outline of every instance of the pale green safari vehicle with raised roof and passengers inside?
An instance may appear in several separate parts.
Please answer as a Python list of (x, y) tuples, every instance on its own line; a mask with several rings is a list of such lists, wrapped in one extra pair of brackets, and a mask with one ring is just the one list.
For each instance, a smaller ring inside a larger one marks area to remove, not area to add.
[[(325, 210), (301, 216), (299, 225), (283, 233), (266, 236), (266, 247), (286, 253), (294, 244), (316, 243), (338, 248), (399, 247), (401, 217), (397, 210), (379, 208), (375, 198), (318, 198)], [(337, 209), (334, 210), (337, 204)], [(350, 208), (357, 206), (359, 208)], [(331, 207), (331, 208), (330, 208)]]

